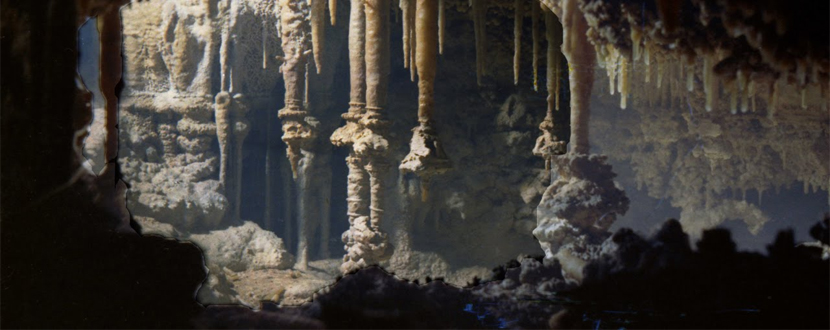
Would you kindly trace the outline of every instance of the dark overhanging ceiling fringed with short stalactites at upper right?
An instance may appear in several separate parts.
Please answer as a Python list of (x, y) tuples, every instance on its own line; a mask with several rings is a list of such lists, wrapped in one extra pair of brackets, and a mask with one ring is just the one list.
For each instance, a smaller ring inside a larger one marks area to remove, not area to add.
[[(729, 98), (732, 114), (755, 111), (760, 98), (770, 115), (780, 107), (783, 85), (797, 88), (803, 109), (808, 108), (808, 91), (818, 90), (824, 99), (821, 110), (827, 109), (830, 36), (819, 27), (822, 17), (815, 15), (821, 12), (818, 15), (824, 15), (826, 22), (828, 6), (817, 5), (702, 0), (580, 3), (588, 19), (587, 36), (608, 72), (609, 92), (620, 94), (621, 108), (628, 106), (632, 94), (648, 96), (647, 91), (632, 92), (629, 81), (632, 73), (645, 69), (642, 78), (658, 90), (667, 79), (685, 82), (685, 88), (669, 93), (702, 88), (707, 111), (715, 110), (720, 96)], [(639, 65), (643, 67), (635, 68)], [(696, 73), (702, 76), (698, 76), (701, 87)]]

